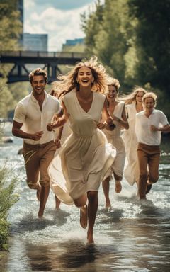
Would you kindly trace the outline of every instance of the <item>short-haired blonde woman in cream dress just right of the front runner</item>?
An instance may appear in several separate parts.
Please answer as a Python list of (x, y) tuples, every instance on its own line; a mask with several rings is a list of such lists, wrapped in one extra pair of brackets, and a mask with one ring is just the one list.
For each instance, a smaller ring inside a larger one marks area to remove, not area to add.
[[(121, 181), (123, 178), (123, 169), (125, 165), (125, 145), (122, 137), (120, 136), (121, 128), (128, 130), (128, 119), (125, 113), (125, 103), (118, 101), (118, 89), (120, 84), (118, 79), (113, 77), (108, 78), (108, 94), (106, 95), (108, 101), (108, 112), (113, 118), (113, 124), (107, 126), (103, 132), (105, 133), (108, 142), (116, 149), (116, 157), (111, 167), (111, 174), (115, 178), (115, 192), (120, 193), (122, 190)], [(109, 198), (111, 175), (107, 176), (102, 182), (103, 192), (106, 198), (106, 208), (111, 208), (111, 200)]]

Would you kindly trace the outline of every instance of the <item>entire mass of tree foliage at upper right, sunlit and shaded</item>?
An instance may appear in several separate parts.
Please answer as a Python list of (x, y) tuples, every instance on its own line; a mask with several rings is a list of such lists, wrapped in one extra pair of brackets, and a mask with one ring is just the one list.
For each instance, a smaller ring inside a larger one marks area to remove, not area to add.
[(96, 1), (96, 11), (81, 16), (86, 51), (128, 89), (134, 85), (169, 91), (170, 1)]

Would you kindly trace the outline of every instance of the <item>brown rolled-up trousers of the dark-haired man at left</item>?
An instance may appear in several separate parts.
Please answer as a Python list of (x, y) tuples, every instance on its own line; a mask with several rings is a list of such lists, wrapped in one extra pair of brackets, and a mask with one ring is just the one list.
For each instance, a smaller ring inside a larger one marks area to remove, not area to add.
[(48, 186), (50, 184), (47, 170), (56, 149), (57, 147), (53, 141), (42, 145), (23, 144), (27, 183), (31, 189), (37, 188), (38, 182), (40, 182), (41, 186)]

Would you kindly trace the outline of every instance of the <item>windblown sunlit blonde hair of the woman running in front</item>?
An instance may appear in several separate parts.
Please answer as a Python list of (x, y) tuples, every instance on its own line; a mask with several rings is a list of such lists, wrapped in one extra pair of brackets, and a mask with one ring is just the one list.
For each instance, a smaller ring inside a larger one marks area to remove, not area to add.
[(79, 82), (77, 82), (77, 76), (81, 67), (88, 67), (91, 69), (92, 75), (94, 77), (94, 82), (91, 84), (91, 90), (101, 94), (106, 93), (108, 89), (108, 75), (106, 74), (106, 69), (103, 67), (103, 64), (99, 63), (97, 57), (94, 56), (91, 57), (90, 60), (78, 62), (74, 68), (66, 75), (60, 75), (58, 77), (64, 84), (64, 91), (62, 91), (61, 95), (63, 96), (73, 89), (79, 91)]

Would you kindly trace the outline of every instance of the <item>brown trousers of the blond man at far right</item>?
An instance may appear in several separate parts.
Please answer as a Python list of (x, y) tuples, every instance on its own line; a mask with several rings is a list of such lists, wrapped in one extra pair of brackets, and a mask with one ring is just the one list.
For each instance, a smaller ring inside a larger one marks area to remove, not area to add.
[(137, 157), (140, 167), (138, 193), (140, 198), (146, 198), (147, 179), (150, 183), (155, 183), (159, 179), (159, 146), (138, 143)]

